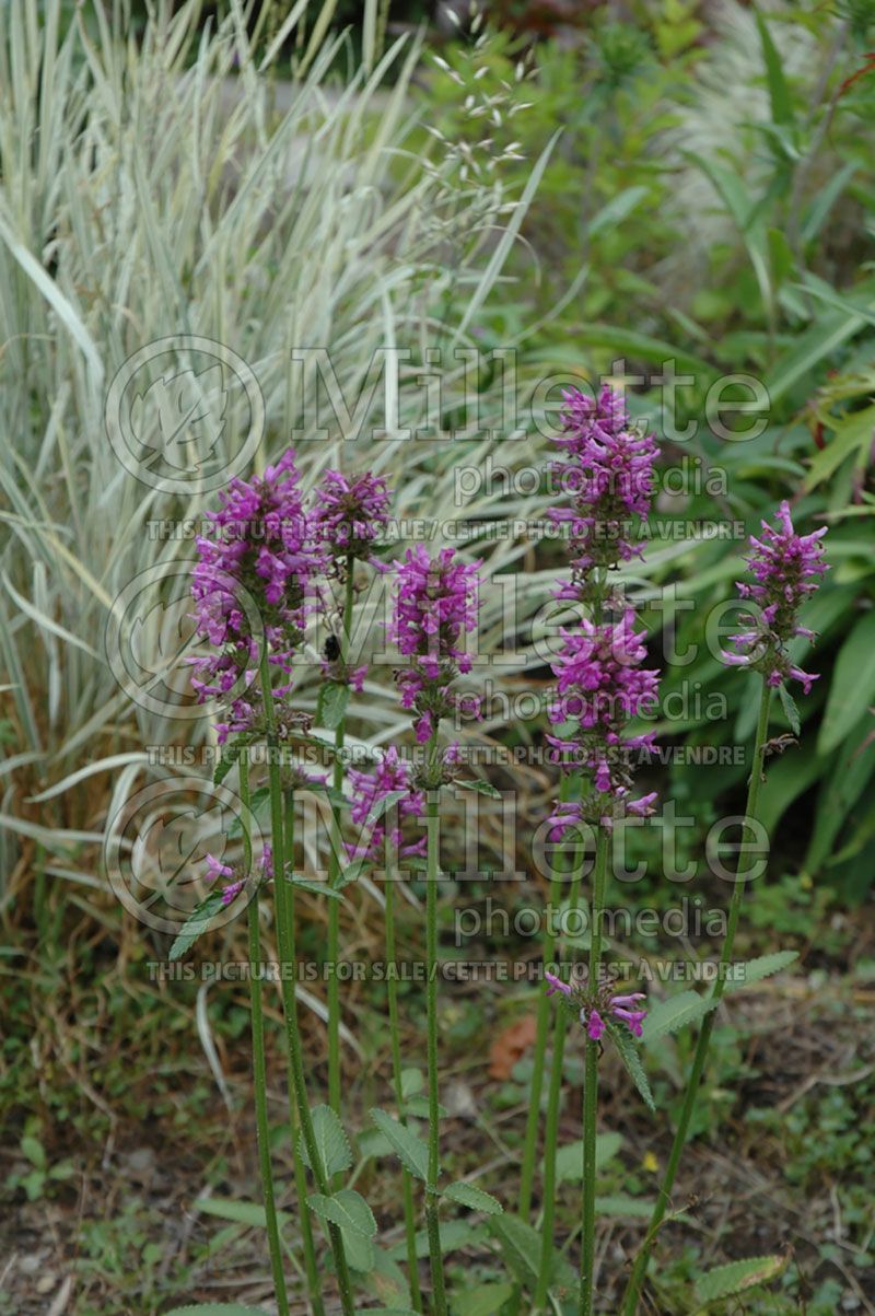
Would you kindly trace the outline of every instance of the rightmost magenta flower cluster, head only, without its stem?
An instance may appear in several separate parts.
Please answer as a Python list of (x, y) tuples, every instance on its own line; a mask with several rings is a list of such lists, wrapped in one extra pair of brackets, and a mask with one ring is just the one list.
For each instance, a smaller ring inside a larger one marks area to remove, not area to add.
[(797, 615), (828, 570), (821, 542), (826, 526), (812, 534), (797, 534), (786, 501), (778, 508), (778, 529), (762, 521), (762, 537), (750, 538), (754, 551), (747, 563), (754, 583), (738, 580), (737, 588), (742, 599), (757, 604), (758, 612), (745, 619), (749, 629), (732, 636), (742, 651), (724, 654), (724, 661), (763, 672), (770, 686), (799, 680), (808, 694), (817, 676), (795, 667), (786, 646), (795, 636), (814, 638), (812, 630), (799, 625)]

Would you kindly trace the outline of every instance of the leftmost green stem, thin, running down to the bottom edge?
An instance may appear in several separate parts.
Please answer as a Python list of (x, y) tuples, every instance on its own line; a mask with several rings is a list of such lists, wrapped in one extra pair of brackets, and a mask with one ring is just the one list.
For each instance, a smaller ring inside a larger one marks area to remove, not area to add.
[[(246, 753), (239, 761), (239, 799), (243, 805), (243, 870), (246, 874), (253, 869), (253, 838), (249, 833), (249, 762)], [(267, 1220), (267, 1246), (271, 1258), (271, 1274), (274, 1277), (274, 1292), (276, 1295), (276, 1309), (279, 1316), (288, 1316), (288, 1295), (286, 1292), (286, 1274), (283, 1270), (283, 1246), (279, 1238), (279, 1223), (276, 1220), (276, 1199), (274, 1195), (274, 1171), (271, 1167), (270, 1149), (270, 1123), (267, 1119), (267, 1062), (264, 1058), (264, 1011), (262, 986), (262, 946), (261, 929), (258, 924), (258, 886), (249, 901), (246, 911), (249, 917), (249, 999), (253, 1020), (253, 1078), (255, 1084), (255, 1133), (258, 1142), (258, 1166), (262, 1177), (262, 1198), (264, 1202), (264, 1219)]]

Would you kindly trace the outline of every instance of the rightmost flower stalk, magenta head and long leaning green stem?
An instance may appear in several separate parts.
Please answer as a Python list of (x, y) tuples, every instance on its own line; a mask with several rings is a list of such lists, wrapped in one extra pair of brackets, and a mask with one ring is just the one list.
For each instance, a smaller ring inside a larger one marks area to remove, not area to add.
[[(739, 580), (737, 587), (741, 597), (753, 603), (755, 611), (745, 619), (745, 630), (732, 637), (736, 653), (724, 654), (724, 662), (732, 666), (749, 667), (753, 671), (758, 671), (762, 678), (753, 762), (747, 784), (747, 801), (745, 804), (745, 820), (749, 824), (755, 822), (758, 817), (759, 788), (763, 780), (772, 691), (776, 688), (782, 690), (784, 683), (792, 678), (793, 680), (799, 680), (804, 692), (808, 694), (812, 683), (817, 680), (816, 675), (793, 666), (787, 653), (787, 645), (796, 636), (804, 636), (808, 640), (814, 638), (812, 630), (799, 625), (797, 615), (800, 607), (816, 591), (820, 578), (826, 571), (826, 563), (822, 561), (824, 545), (821, 544), (822, 537), (826, 534), (826, 528), (814, 530), (813, 534), (797, 534), (793, 529), (789, 507), (786, 501), (778, 509), (778, 529), (775, 529), (767, 521), (763, 521), (761, 537), (751, 537), (750, 540), (753, 553), (747, 558), (747, 563), (754, 580), (753, 583)], [(671, 1205), (671, 1194), (687, 1144), (689, 1123), (696, 1108), (699, 1087), (708, 1059), (717, 1005), (722, 999), (728, 970), (732, 965), (745, 896), (745, 879), (753, 866), (754, 858), (755, 855), (749, 848), (739, 850), (736, 882), (729, 903), (726, 936), (724, 937), (717, 976), (709, 998), (712, 1008), (699, 1032), (666, 1173), (659, 1186), (659, 1194), (645, 1240), (636, 1257), (626, 1287), (622, 1305), (624, 1316), (634, 1316), (638, 1309), (650, 1252), (666, 1212)]]

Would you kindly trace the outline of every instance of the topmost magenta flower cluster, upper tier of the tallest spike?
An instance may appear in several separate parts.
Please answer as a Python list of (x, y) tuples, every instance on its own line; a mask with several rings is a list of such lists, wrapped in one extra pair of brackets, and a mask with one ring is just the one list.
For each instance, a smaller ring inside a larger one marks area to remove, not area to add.
[(654, 436), (630, 421), (622, 396), (604, 384), (599, 397), (578, 388), (563, 393), (563, 434), (555, 442), (564, 458), (553, 463), (571, 507), (550, 508), (557, 524), (567, 525), (572, 582), (559, 597), (578, 599), (595, 569), (641, 555), (633, 542), (636, 516), (650, 511), (657, 458)]

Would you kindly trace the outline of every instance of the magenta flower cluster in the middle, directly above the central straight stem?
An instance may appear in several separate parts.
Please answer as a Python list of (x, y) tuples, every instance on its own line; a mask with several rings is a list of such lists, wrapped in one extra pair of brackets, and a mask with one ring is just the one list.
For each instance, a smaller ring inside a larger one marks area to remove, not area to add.
[[(408, 549), (397, 563), (395, 609), (388, 633), (408, 666), (396, 674), (401, 707), (416, 715), (416, 738), (424, 745), (437, 724), (459, 707), (450, 690), (459, 672), (471, 670), (462, 644), (476, 630), (479, 562), (462, 562), (454, 549), (430, 558), (425, 546)], [(466, 696), (468, 715), (474, 711)]]

